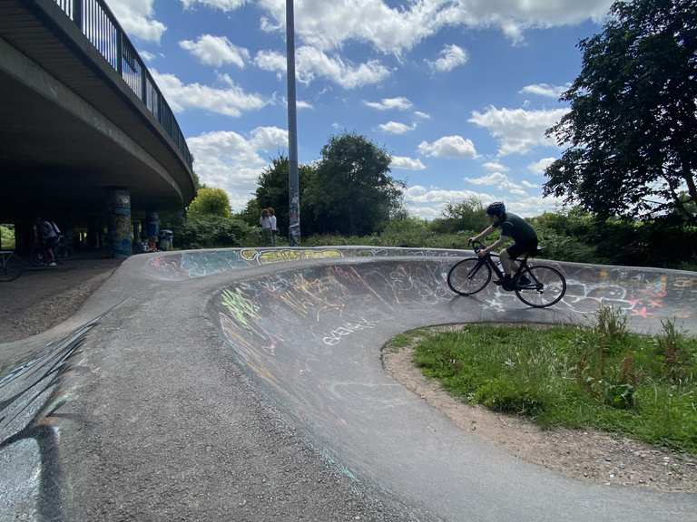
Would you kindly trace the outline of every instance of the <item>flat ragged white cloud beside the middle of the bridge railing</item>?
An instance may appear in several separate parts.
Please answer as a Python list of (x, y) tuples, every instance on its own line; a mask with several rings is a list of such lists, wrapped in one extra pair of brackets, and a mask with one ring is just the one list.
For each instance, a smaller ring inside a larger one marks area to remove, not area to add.
[(226, 116), (241, 116), (245, 111), (256, 111), (268, 104), (259, 94), (250, 94), (232, 81), (227, 74), (220, 76), (223, 88), (184, 83), (174, 74), (152, 70), (152, 78), (158, 84), (172, 111), (204, 109)]

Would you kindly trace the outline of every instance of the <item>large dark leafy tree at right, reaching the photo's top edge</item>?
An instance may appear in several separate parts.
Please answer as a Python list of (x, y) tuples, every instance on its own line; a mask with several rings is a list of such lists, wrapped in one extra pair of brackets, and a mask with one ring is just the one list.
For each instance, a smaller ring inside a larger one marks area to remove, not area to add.
[(697, 1), (618, 1), (611, 14), (579, 43), (571, 111), (548, 131), (568, 148), (545, 195), (601, 218), (676, 209), (696, 222)]

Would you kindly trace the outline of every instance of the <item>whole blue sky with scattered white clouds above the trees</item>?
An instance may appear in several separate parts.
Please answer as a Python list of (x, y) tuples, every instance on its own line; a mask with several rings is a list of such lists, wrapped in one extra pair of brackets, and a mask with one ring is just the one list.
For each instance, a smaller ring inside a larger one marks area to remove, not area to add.
[[(287, 147), (285, 0), (108, 0), (177, 113), (201, 180), (240, 210)], [(525, 216), (560, 150), (545, 129), (610, 0), (296, 0), (299, 160), (356, 131), (411, 213), (503, 199)]]

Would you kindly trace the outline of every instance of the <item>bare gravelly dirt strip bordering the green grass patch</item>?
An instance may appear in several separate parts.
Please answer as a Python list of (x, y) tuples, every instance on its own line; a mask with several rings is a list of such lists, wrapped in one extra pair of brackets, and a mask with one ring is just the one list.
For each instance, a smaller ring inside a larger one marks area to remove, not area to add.
[[(453, 331), (462, 326), (437, 327)], [(408, 390), (447, 415), (462, 430), (494, 442), (516, 457), (572, 478), (659, 491), (697, 492), (697, 459), (596, 430), (541, 430), (530, 421), (466, 404), (414, 365), (419, 338), (383, 350), (385, 369)]]

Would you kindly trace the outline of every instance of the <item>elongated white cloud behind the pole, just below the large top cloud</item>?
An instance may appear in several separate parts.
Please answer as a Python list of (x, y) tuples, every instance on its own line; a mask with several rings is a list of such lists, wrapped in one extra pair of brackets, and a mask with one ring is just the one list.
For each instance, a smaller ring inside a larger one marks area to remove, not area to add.
[[(260, 51), (254, 63), (265, 71), (286, 73), (286, 56), (276, 51)], [(299, 82), (309, 84), (317, 78), (326, 78), (344, 89), (379, 83), (390, 75), (389, 69), (378, 60), (357, 65), (307, 45), (296, 52), (295, 68)]]

